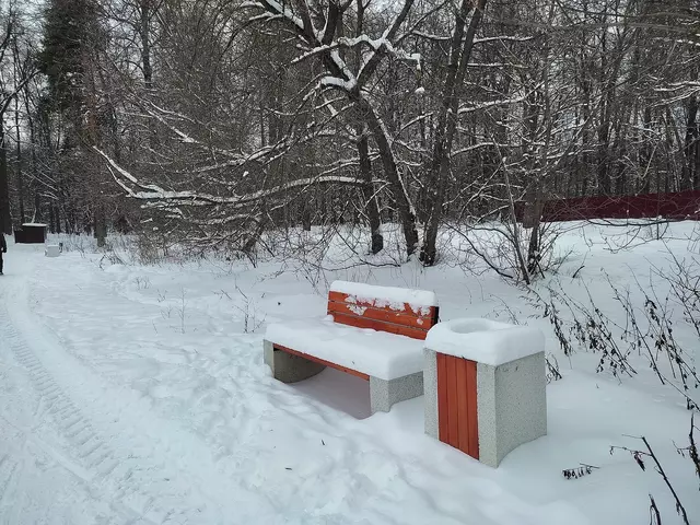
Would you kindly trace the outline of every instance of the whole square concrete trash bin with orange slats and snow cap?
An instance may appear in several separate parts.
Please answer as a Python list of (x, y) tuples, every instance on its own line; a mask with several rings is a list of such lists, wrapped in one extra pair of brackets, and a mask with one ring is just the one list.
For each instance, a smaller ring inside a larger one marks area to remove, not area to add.
[(498, 467), (547, 434), (544, 335), (486, 319), (443, 325), (425, 341), (425, 433)]

